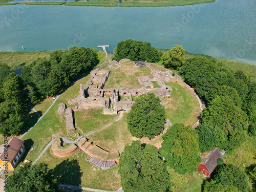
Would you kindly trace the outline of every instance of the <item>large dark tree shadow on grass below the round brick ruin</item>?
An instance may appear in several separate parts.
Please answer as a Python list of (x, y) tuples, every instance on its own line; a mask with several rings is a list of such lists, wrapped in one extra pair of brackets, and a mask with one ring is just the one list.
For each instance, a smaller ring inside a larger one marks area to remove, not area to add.
[(58, 183), (77, 186), (81, 185), (81, 177), (83, 173), (81, 172), (81, 168), (76, 159), (62, 161), (60, 164), (56, 165), (54, 172)]

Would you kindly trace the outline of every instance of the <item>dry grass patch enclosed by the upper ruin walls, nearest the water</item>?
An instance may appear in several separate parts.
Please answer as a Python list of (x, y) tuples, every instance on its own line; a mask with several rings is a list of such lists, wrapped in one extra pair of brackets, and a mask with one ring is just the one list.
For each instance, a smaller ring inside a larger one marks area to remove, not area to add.
[(110, 88), (141, 88), (138, 77), (152, 76), (150, 69), (147, 67), (136, 68), (134, 61), (122, 62), (121, 67), (114, 69), (107, 67), (110, 70), (109, 79), (106, 81), (104, 89)]

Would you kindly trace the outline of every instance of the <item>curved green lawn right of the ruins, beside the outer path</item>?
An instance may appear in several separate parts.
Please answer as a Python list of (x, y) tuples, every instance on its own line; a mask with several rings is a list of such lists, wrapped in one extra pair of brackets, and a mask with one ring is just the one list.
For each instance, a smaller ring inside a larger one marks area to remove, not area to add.
[(174, 123), (184, 123), (193, 125), (200, 114), (200, 108), (196, 97), (182, 86), (182, 82), (165, 83), (173, 88), (172, 95), (163, 100), (165, 105), (166, 117)]

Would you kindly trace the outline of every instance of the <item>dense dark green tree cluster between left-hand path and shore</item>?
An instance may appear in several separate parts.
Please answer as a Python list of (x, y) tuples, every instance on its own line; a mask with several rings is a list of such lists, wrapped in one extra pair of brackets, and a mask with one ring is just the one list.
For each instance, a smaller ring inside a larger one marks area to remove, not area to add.
[(31, 102), (37, 103), (40, 97), (61, 92), (72, 80), (92, 69), (96, 61), (95, 50), (71, 47), (66, 51), (53, 51), (49, 60), (38, 58), (31, 66), (25, 66), (22, 78), (30, 85)]

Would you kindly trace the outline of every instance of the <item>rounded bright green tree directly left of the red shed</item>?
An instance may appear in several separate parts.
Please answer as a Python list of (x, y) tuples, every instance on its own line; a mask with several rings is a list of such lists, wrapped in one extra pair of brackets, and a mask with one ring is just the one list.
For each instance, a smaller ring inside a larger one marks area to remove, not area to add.
[(159, 152), (167, 166), (182, 175), (197, 170), (201, 161), (198, 135), (190, 126), (175, 124), (169, 127), (163, 139)]

